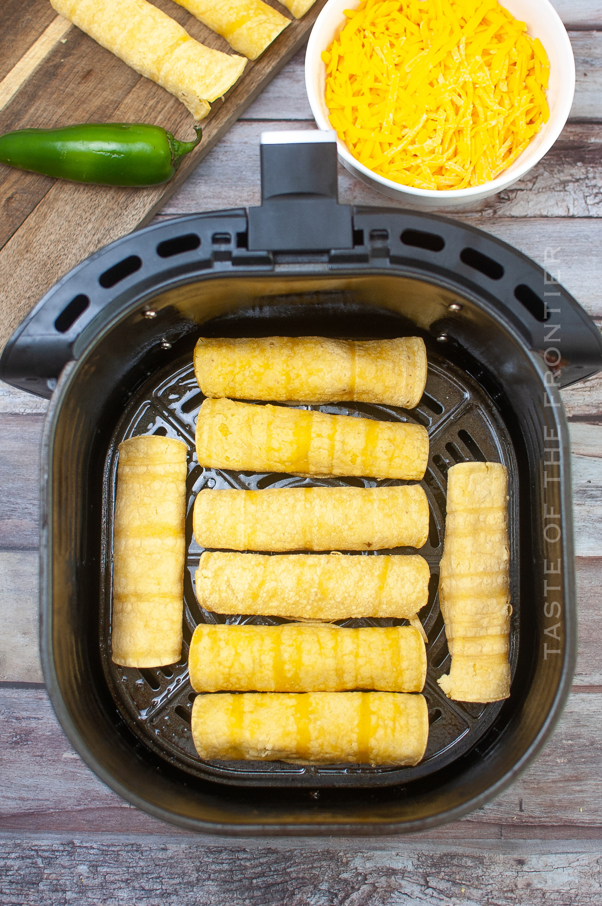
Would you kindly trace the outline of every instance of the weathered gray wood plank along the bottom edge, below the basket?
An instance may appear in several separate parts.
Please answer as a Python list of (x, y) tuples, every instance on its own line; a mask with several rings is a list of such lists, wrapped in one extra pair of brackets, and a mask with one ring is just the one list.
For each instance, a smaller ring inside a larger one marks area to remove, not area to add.
[(599, 906), (602, 897), (597, 841), (20, 834), (0, 851), (11, 906)]

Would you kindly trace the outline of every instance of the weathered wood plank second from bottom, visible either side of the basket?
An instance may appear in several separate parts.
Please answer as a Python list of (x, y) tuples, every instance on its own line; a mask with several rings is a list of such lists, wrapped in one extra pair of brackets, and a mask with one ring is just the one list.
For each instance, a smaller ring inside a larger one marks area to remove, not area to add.
[[(64, 828), (69, 814), (84, 810), (89, 829), (101, 830), (102, 815), (97, 810), (127, 807), (73, 751), (44, 689), (0, 687), (0, 702), (0, 828), (31, 829), (34, 822), (46, 830), (47, 819), (51, 827), (56, 826), (57, 813), (62, 813)], [(594, 743), (591, 732), (600, 718), (600, 692), (573, 692), (554, 736), (536, 762), (510, 789), (471, 814), (471, 822), (601, 826), (600, 745), (599, 740)], [(73, 821), (78, 820), (73, 815)]]

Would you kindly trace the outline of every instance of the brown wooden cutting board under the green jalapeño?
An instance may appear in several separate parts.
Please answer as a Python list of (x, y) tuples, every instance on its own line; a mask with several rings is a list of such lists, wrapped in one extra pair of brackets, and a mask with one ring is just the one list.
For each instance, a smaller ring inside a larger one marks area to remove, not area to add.
[[(233, 53), (172, 0), (152, 0), (198, 41)], [(271, 0), (267, 0), (270, 3)], [(0, 165), (0, 349), (44, 293), (74, 265), (144, 226), (259, 92), (306, 41), (325, 0), (292, 19), (203, 120), (203, 140), (169, 183), (153, 188), (84, 186)], [(292, 18), (284, 6), (279, 13)], [(152, 122), (194, 138), (192, 116), (169, 92), (57, 16), (48, 0), (3, 0), (0, 134), (79, 122)]]

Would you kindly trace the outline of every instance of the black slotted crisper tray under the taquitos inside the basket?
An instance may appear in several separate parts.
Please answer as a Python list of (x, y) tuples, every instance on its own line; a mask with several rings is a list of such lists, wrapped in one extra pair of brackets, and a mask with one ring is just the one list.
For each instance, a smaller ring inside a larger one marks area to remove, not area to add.
[[(264, 325), (267, 328), (268, 325)], [(283, 333), (264, 329), (262, 335)], [(320, 333), (314, 327), (306, 333)], [(234, 335), (230, 330), (229, 335)], [(240, 334), (242, 335), (242, 334)], [(331, 333), (332, 335), (332, 333)], [(398, 335), (401, 335), (398, 334)], [(372, 337), (371, 337), (372, 338)], [(190, 731), (190, 714), (196, 693), (188, 675), (189, 641), (199, 622), (254, 623), (273, 625), (286, 622), (277, 618), (222, 615), (199, 607), (194, 593), (194, 573), (203, 551), (192, 534), (192, 507), (196, 495), (206, 489), (267, 487), (383, 487), (407, 482), (374, 478), (296, 477), (282, 474), (257, 474), (199, 466), (195, 453), (195, 422), (204, 400), (194, 376), (191, 355), (171, 361), (150, 377), (131, 397), (114, 430), (103, 477), (103, 543), (101, 583), (101, 656), (112, 698), (133, 733), (145, 747), (192, 776), (220, 783), (244, 786), (387, 786), (424, 777), (450, 764), (475, 746), (498, 715), (502, 702), (488, 705), (447, 699), (437, 679), (450, 669), (450, 655), (439, 607), (438, 579), (445, 525), (445, 495), (448, 467), (458, 462), (488, 460), (502, 462), (509, 471), (510, 495), (510, 592), (513, 614), (510, 625), (510, 668), (516, 670), (519, 650), (519, 537), (518, 471), (510, 434), (490, 394), (466, 371), (452, 364), (431, 348), (426, 389), (413, 410), (364, 403), (306, 406), (352, 417), (407, 421), (429, 431), (430, 457), (421, 485), (430, 506), (429, 538), (420, 551), (397, 548), (394, 551), (345, 552), (349, 556), (420, 553), (431, 568), (429, 601), (419, 613), (428, 636), (428, 670), (424, 696), (429, 708), (429, 741), (422, 762), (414, 767), (373, 767), (368, 765), (299, 766), (284, 762), (202, 761)], [(112, 525), (116, 487), (118, 445), (139, 435), (163, 435), (183, 440), (189, 447), (186, 520), (186, 571), (184, 578), (184, 618), (182, 656), (177, 664), (158, 669), (137, 670), (120, 667), (111, 659), (112, 612)], [(264, 552), (265, 553), (265, 552)], [(403, 620), (346, 620), (343, 626), (402, 625)]]

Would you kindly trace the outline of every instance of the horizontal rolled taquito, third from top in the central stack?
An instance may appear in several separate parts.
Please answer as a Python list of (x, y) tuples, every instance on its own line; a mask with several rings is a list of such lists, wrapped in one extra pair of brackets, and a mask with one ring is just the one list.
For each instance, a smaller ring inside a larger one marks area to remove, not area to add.
[(201, 547), (234, 551), (361, 551), (422, 547), (429, 505), (420, 485), (201, 490)]

